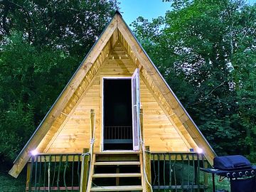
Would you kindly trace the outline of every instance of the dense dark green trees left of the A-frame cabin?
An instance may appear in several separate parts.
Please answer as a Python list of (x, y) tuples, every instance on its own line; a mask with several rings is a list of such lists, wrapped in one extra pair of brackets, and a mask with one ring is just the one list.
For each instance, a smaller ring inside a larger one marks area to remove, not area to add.
[(21, 151), (115, 9), (115, 0), (0, 2), (2, 161)]

